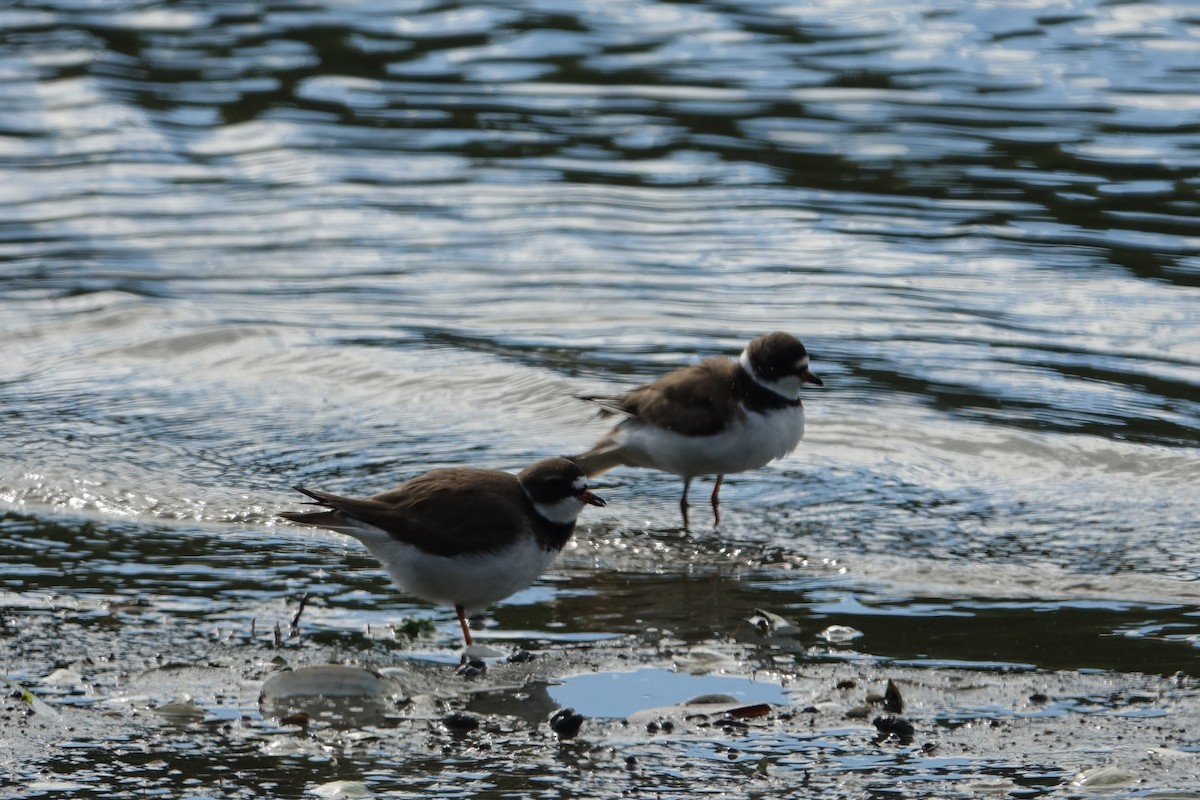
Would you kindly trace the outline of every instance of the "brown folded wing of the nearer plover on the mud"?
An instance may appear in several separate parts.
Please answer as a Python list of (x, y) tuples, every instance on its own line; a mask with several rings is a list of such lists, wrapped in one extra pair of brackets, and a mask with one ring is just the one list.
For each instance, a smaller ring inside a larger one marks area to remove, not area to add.
[(366, 499), (300, 491), (334, 511), (283, 515), (288, 519), (349, 533), (349, 517), (436, 555), (484, 552), (511, 540), (524, 529), (528, 503), (516, 476), (468, 468), (433, 470)]

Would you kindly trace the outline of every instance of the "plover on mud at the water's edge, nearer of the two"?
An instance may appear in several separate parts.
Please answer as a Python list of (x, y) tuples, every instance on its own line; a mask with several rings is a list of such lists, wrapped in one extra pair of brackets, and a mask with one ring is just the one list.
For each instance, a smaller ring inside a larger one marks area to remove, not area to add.
[(295, 488), (328, 510), (281, 517), (362, 542), (401, 590), (454, 606), (467, 646), (467, 618), (533, 583), (571, 537), (583, 506), (605, 505), (565, 458), (517, 475), (436, 469), (366, 499)]

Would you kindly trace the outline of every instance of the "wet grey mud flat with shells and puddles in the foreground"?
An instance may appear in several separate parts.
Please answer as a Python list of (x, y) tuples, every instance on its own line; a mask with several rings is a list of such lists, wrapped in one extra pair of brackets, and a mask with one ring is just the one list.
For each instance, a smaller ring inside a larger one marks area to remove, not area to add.
[(1183, 675), (804, 661), (769, 631), (493, 640), (482, 669), (428, 636), (176, 631), (168, 655), (136, 621), (50, 663), (22, 650), (152, 610), (49, 600), (5, 609), (6, 798), (1200, 796)]

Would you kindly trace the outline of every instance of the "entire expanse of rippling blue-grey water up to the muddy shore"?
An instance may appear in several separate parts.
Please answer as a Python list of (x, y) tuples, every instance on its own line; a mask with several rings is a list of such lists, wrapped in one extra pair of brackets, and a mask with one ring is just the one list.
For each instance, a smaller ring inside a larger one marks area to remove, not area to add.
[(288, 487), (574, 452), (604, 423), (572, 395), (784, 329), (826, 381), (798, 451), (730, 476), (715, 530), (696, 485), (688, 534), (677, 479), (604, 476), (482, 639), (1194, 674), (1198, 31), (1084, 0), (0, 11), (5, 673), (70, 703), (46, 676), (114, 655), (108, 697), (257, 657), (306, 594), (306, 660), (449, 668), (452, 615), (278, 523)]

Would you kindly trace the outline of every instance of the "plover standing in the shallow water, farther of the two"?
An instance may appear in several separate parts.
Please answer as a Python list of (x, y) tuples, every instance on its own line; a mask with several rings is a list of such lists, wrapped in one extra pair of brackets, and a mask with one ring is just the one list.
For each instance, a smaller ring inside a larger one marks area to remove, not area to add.
[(583, 397), (601, 414), (624, 416), (592, 450), (572, 456), (588, 476), (614, 467), (649, 467), (683, 477), (683, 524), (688, 527), (691, 479), (716, 475), (718, 494), (730, 473), (782, 458), (804, 435), (804, 384), (822, 386), (809, 371), (809, 354), (791, 333), (767, 333), (742, 356), (704, 359), (652, 384), (611, 397)]

